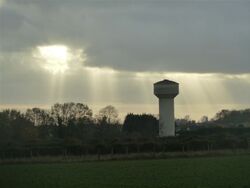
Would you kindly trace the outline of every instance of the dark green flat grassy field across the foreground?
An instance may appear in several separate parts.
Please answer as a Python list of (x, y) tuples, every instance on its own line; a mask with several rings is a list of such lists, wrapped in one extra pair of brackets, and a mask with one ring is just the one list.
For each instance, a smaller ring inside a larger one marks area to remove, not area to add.
[(250, 188), (250, 156), (0, 166), (1, 188)]

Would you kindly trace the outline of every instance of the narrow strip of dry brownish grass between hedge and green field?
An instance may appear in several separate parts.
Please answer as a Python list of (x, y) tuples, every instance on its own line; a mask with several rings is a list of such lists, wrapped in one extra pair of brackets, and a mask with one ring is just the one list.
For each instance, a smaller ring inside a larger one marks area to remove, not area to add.
[(143, 160), (143, 159), (170, 159), (170, 158), (194, 158), (194, 157), (225, 157), (250, 155), (250, 150), (212, 150), (189, 152), (162, 152), (162, 153), (129, 153), (115, 155), (82, 155), (82, 156), (34, 156), (26, 158), (0, 158), (1, 164), (34, 164), (34, 163), (73, 163), (90, 161), (114, 161), (114, 160)]

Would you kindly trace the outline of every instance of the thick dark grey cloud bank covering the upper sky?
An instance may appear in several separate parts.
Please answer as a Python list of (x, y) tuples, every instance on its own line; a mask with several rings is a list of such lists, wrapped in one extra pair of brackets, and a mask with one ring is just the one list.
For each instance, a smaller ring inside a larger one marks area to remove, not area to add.
[(245, 1), (10, 0), (0, 9), (2, 51), (86, 47), (87, 66), (123, 71), (248, 73)]

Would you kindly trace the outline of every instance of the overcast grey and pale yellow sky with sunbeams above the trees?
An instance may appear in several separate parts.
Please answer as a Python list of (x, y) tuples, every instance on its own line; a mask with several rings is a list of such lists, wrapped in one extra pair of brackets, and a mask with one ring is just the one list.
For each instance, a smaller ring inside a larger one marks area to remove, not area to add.
[(250, 107), (249, 0), (0, 0), (0, 109), (81, 102), (177, 118)]

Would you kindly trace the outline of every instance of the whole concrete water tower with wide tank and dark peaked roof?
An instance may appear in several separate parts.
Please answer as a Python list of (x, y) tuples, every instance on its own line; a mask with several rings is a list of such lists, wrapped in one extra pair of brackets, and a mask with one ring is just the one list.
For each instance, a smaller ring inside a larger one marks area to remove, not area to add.
[(170, 80), (154, 83), (154, 94), (159, 98), (159, 136), (175, 136), (174, 98), (179, 84)]

